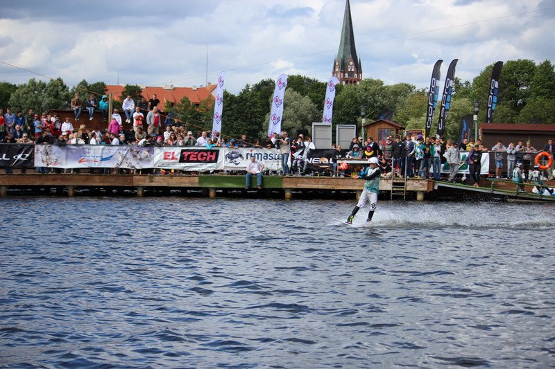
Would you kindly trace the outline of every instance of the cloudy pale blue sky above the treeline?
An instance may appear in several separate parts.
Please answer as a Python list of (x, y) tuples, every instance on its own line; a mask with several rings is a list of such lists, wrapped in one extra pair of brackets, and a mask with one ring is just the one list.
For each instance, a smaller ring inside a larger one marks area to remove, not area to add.
[[(443, 78), (458, 58), (463, 79), (497, 60), (554, 61), (555, 0), (350, 3), (364, 77), (387, 84), (425, 87), (437, 59)], [(116, 84), (119, 73), (120, 84), (199, 86), (208, 51), (209, 82), (228, 71), (234, 93), (280, 73), (325, 81), (344, 8), (345, 0), (3, 0), (0, 60), (69, 84)], [(0, 64), (0, 81), (33, 76)]]

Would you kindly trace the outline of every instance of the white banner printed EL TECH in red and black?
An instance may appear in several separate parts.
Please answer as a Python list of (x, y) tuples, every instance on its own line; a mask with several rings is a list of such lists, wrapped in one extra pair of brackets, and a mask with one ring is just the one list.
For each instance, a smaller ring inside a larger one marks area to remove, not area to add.
[(154, 167), (189, 171), (220, 170), (223, 168), (221, 148), (155, 147)]

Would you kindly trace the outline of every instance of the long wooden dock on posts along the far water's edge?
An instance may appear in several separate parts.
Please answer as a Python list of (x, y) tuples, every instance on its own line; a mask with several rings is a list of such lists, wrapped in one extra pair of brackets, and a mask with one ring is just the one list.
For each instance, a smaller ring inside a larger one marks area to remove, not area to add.
[[(256, 179), (253, 178), (248, 191), (262, 192), (268, 197), (293, 198), (293, 193), (318, 192), (323, 198), (333, 198), (333, 194), (354, 194), (359, 197), (362, 192), (364, 181), (353, 178), (339, 177), (281, 177), (265, 176), (262, 181), (262, 190), (256, 188)], [(549, 184), (555, 186), (555, 184)], [(230, 191), (245, 192), (245, 177), (243, 175), (185, 175), (185, 174), (0, 174), (0, 196), (7, 196), (12, 190), (42, 189), (50, 192), (52, 188), (57, 193), (67, 193), (69, 197), (76, 195), (79, 190), (126, 190), (135, 192), (142, 197), (145, 190), (162, 190), (168, 193), (170, 190), (181, 192), (196, 191), (208, 197), (217, 197), (218, 193)], [(462, 183), (448, 183), (445, 181), (432, 181), (430, 179), (404, 179), (391, 180), (382, 178), (379, 182), (379, 190), (384, 199), (393, 199), (395, 191), (397, 195), (399, 188), (403, 188), (402, 199), (405, 195), (409, 199), (422, 201), (425, 197), (434, 198), (436, 193), (443, 194), (445, 189), (452, 198), (459, 198), (460, 194), (466, 197), (479, 197), (486, 199), (485, 195), (491, 197), (505, 197), (513, 199), (527, 199), (536, 201), (555, 201), (555, 196), (540, 196), (531, 192), (533, 184), (524, 184), (525, 192), (520, 192), (511, 181), (482, 179), (480, 187), (472, 187)], [(155, 192), (152, 191), (152, 192)]]

